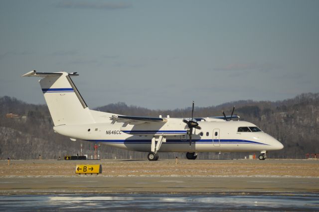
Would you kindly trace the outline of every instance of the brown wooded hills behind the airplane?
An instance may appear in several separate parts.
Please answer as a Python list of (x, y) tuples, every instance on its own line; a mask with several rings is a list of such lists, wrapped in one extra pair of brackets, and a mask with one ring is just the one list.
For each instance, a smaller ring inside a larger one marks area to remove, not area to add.
[[(269, 157), (304, 158), (307, 153), (319, 154), (319, 93), (305, 93), (283, 101), (236, 101), (218, 106), (195, 107), (196, 117), (220, 116), (224, 110), (230, 115), (236, 105), (235, 115), (240, 120), (252, 122), (263, 131), (281, 141), (285, 148), (270, 152)], [(96, 110), (133, 116), (189, 117), (191, 108), (150, 110), (128, 106), (123, 102), (108, 104)], [(0, 98), (0, 159), (57, 159), (76, 155), (80, 144), (84, 154), (94, 154), (94, 144), (72, 142), (53, 131), (53, 123), (46, 105), (27, 104), (12, 97)], [(259, 154), (259, 153), (256, 153)], [(248, 153), (200, 153), (199, 159), (244, 158)], [(102, 145), (100, 158), (146, 159), (147, 153), (121, 150)], [(184, 154), (160, 153), (160, 158), (184, 157)]]

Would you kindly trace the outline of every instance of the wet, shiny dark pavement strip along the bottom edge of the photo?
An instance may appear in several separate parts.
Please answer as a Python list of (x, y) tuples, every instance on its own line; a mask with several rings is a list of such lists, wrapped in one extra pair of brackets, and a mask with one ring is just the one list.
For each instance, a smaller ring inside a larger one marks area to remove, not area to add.
[(114, 212), (201, 212), (201, 211), (319, 211), (319, 194), (85, 194), (4, 195), (0, 211), (114, 211)]

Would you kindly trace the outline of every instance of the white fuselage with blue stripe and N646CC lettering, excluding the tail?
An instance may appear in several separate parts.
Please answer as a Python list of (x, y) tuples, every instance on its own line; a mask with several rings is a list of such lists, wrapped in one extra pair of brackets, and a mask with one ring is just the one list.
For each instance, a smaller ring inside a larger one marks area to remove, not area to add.
[[(178, 129), (187, 129), (182, 119), (172, 119), (182, 123)], [(160, 152), (253, 152), (280, 150), (283, 145), (275, 138), (264, 132), (237, 132), (238, 127), (256, 126), (245, 121), (218, 121), (198, 122), (201, 130), (194, 129), (192, 145), (189, 147), (188, 135), (166, 135), (166, 142), (162, 143)], [(149, 124), (152, 126), (152, 124)], [(70, 138), (82, 139), (109, 146), (140, 152), (151, 151), (151, 135), (130, 135), (122, 131), (123, 123), (109, 122), (94, 123), (87, 125), (61, 125), (55, 126), (54, 130)], [(158, 130), (165, 129), (160, 128)], [(152, 129), (149, 128), (149, 129)], [(153, 129), (154, 130), (154, 129)], [(214, 135), (214, 130), (218, 132)], [(202, 132), (202, 135), (201, 135)], [(214, 139), (215, 138), (215, 139)], [(217, 139), (218, 138), (218, 139)]]

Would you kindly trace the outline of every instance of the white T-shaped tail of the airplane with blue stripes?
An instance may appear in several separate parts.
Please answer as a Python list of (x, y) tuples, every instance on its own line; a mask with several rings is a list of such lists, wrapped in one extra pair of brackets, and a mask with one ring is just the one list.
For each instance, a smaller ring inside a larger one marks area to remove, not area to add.
[(75, 87), (71, 76), (76, 73), (40, 73), (30, 71), (22, 76), (44, 77), (39, 80), (54, 126), (94, 123), (90, 109)]

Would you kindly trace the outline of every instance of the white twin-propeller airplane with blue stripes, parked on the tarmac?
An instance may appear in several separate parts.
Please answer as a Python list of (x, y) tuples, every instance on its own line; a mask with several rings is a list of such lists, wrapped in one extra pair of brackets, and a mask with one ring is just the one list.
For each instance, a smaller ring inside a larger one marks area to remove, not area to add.
[(239, 116), (169, 118), (123, 116), (90, 110), (70, 76), (75, 73), (30, 71), (22, 76), (39, 80), (49, 108), (54, 131), (72, 141), (81, 139), (117, 148), (149, 152), (157, 161), (158, 152), (186, 152), (194, 160), (198, 152), (255, 152), (260, 160), (266, 153), (284, 146), (272, 136), (246, 121), (232, 121)]

